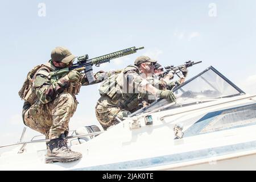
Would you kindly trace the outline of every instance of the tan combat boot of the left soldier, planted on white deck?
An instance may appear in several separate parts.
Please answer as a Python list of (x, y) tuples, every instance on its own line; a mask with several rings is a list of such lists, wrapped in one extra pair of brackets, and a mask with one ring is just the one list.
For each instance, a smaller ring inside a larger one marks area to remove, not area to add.
[(68, 148), (65, 134), (50, 140), (47, 145), (46, 163), (71, 162), (82, 158), (80, 152), (74, 152)]

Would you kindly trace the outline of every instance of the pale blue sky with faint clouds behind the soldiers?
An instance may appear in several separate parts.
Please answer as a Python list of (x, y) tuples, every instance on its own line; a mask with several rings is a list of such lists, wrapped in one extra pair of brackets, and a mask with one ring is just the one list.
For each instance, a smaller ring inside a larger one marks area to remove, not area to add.
[[(39, 3), (45, 3), (46, 16), (38, 16)], [(210, 3), (217, 6), (216, 17), (209, 16)], [(90, 57), (144, 46), (94, 71), (124, 68), (140, 55), (163, 65), (201, 60), (189, 69), (189, 77), (213, 65), (246, 92), (254, 92), (255, 18), (255, 0), (1, 1), (0, 144), (19, 139), (24, 125), (18, 90), (27, 72), (49, 60), (56, 46)], [(98, 86), (81, 89), (71, 128), (96, 122)]]

